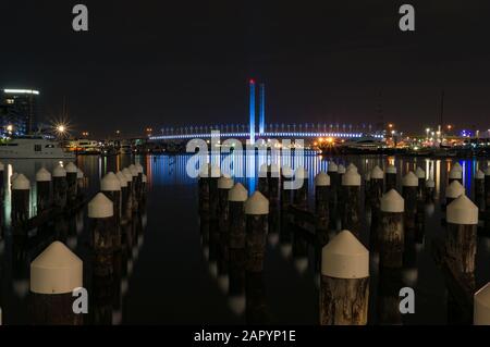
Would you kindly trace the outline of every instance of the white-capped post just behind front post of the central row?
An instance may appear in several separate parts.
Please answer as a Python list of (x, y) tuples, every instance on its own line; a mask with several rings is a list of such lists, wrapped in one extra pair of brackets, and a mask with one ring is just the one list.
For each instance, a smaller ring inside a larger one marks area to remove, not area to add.
[(241, 183), (235, 185), (228, 193), (229, 222), (230, 222), (230, 248), (245, 249), (245, 207), (248, 191)]

